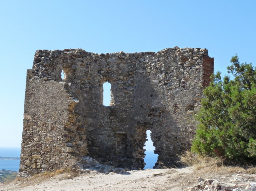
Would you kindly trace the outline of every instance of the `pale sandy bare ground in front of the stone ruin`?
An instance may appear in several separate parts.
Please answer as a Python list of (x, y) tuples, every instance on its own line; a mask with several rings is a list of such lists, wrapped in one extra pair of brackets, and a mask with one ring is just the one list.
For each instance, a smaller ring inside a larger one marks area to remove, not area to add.
[(45, 180), (43, 177), (33, 180), (21, 179), (0, 185), (0, 191), (181, 191), (187, 188), (187, 185), (183, 185), (180, 177), (187, 176), (192, 171), (191, 167), (187, 167), (183, 169), (134, 170), (123, 175), (92, 172), (72, 179), (68, 179), (67, 174), (61, 174)]

